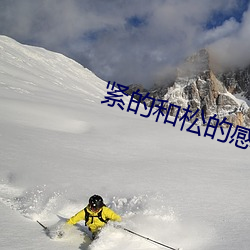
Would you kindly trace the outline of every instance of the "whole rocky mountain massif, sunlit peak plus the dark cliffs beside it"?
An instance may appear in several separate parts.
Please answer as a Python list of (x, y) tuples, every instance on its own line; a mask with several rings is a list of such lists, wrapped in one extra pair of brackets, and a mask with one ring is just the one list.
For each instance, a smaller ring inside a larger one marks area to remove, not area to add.
[[(193, 113), (199, 109), (200, 112), (196, 115), (199, 119), (203, 111), (206, 120), (216, 115), (220, 121), (226, 117), (234, 126), (250, 127), (250, 109), (247, 103), (233, 95), (242, 93), (250, 99), (249, 86), (250, 67), (215, 74), (211, 69), (209, 53), (203, 49), (187, 58), (177, 69), (177, 77), (171, 87), (154, 87), (149, 92), (155, 99), (168, 100), (168, 103), (182, 108), (190, 105)], [(147, 91), (144, 89), (144, 92)], [(175, 115), (175, 112), (175, 109), (171, 110), (171, 115)], [(183, 112), (179, 116), (182, 114)]]

